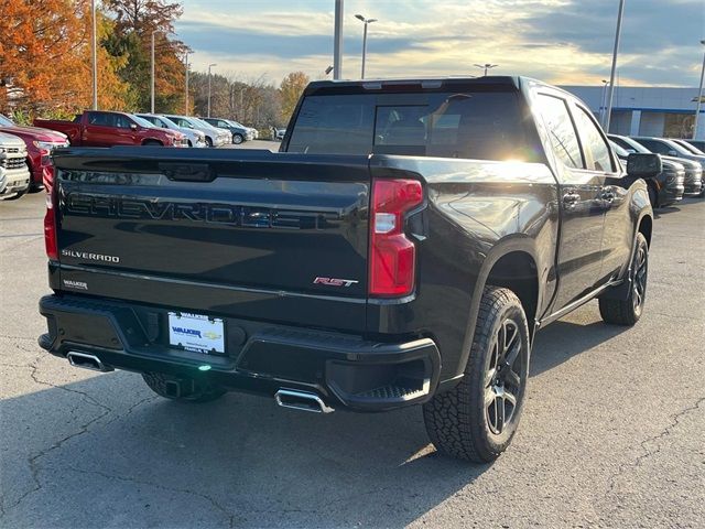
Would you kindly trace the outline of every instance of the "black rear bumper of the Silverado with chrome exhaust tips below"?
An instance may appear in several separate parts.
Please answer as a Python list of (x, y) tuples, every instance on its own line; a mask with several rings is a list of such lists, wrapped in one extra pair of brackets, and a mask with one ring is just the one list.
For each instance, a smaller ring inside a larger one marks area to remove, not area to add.
[(438, 382), (430, 338), (388, 343), (225, 319), (226, 355), (206, 355), (169, 345), (162, 307), (47, 295), (40, 312), (48, 333), (39, 342), (52, 355), (94, 355), (107, 368), (203, 377), (232, 391), (273, 397), (294, 389), (336, 409), (384, 411), (426, 401)]

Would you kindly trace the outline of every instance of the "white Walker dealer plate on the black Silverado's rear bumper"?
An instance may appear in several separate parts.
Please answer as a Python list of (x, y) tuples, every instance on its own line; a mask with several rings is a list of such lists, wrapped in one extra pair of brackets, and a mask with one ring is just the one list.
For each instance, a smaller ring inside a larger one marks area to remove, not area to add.
[(196, 353), (225, 354), (225, 325), (217, 317), (170, 312), (169, 343)]

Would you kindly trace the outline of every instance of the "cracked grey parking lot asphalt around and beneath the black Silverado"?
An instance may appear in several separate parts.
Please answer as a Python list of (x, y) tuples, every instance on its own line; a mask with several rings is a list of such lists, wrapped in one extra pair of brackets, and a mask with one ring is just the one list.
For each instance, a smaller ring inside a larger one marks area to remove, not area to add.
[(705, 201), (658, 215), (637, 326), (592, 302), (540, 332), (491, 465), (436, 454), (417, 408), (180, 404), (47, 356), (43, 210), (0, 203), (2, 528), (703, 527)]

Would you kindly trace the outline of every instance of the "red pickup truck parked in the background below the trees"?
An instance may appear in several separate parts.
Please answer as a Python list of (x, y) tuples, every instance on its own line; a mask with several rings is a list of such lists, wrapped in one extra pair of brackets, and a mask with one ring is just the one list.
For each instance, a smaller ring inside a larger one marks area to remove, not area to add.
[(34, 125), (65, 133), (74, 147), (188, 147), (186, 137), (181, 132), (160, 129), (126, 112), (85, 110), (73, 121), (35, 119)]

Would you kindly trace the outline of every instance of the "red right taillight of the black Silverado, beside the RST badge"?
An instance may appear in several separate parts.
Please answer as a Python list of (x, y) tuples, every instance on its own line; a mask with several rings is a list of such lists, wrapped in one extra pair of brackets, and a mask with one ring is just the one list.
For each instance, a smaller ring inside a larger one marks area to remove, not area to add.
[(423, 202), (415, 180), (375, 180), (370, 210), (370, 281), (373, 296), (413, 292), (416, 247), (404, 235), (404, 214)]

